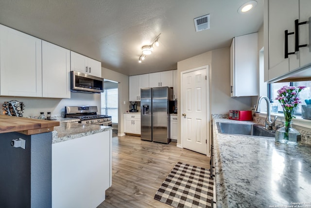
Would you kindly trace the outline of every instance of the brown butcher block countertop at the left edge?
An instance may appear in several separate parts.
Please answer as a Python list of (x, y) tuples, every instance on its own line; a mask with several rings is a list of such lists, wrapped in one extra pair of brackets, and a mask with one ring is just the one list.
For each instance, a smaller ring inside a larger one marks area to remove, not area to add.
[(0, 133), (20, 132), (26, 135), (52, 132), (59, 121), (0, 115)]

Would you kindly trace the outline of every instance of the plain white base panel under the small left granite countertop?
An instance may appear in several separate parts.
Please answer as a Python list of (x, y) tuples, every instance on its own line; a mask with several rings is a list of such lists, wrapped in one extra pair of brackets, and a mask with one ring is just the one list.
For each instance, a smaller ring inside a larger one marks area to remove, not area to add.
[(52, 144), (52, 208), (96, 208), (112, 184), (112, 131)]

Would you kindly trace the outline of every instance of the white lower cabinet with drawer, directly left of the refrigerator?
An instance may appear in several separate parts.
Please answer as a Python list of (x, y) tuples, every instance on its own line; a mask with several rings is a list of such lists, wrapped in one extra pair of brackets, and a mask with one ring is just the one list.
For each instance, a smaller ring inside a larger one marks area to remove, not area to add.
[(124, 133), (140, 134), (140, 114), (124, 113)]

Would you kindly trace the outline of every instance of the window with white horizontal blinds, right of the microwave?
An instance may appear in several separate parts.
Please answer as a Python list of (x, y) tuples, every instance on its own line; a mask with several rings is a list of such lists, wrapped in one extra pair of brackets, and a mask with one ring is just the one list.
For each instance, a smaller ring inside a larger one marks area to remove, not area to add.
[(113, 124), (118, 124), (118, 88), (104, 90), (101, 110), (102, 114), (111, 115)]

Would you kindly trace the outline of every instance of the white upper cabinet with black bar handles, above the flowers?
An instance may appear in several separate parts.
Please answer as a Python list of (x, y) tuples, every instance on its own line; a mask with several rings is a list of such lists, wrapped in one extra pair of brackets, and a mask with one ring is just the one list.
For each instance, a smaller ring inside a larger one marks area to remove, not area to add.
[(267, 0), (264, 7), (264, 80), (274, 82), (311, 63), (310, 25), (300, 24), (311, 17), (311, 1)]

